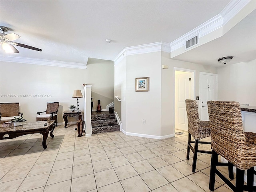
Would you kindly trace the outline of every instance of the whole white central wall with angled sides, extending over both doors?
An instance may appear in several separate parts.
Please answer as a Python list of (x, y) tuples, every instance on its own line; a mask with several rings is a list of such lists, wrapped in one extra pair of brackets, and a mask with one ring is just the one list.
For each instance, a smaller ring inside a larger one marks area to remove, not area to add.
[[(162, 69), (163, 64), (169, 69)], [(121, 109), (115, 110), (121, 111), (124, 131), (155, 138), (173, 136), (174, 67), (196, 70), (196, 96), (199, 73), (217, 73), (215, 67), (172, 60), (170, 54), (160, 51), (128, 55), (115, 64), (115, 92), (122, 96)], [(135, 92), (136, 77), (149, 77), (148, 92)]]

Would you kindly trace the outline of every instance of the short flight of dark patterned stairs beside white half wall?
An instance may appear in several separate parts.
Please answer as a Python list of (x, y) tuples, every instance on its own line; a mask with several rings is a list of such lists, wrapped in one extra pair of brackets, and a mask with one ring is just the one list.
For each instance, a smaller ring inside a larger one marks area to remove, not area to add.
[(110, 111), (92, 112), (92, 134), (119, 131), (115, 114)]

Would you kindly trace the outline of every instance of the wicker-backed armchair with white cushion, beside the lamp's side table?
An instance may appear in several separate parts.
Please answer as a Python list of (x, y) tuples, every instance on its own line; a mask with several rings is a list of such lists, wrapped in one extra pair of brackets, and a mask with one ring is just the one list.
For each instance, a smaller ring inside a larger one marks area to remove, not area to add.
[[(54, 120), (56, 126), (58, 126), (58, 118), (57, 113), (59, 109), (60, 102), (47, 102), (47, 108), (43, 112), (37, 112), (38, 116), (36, 117), (36, 121), (50, 121)], [(41, 114), (46, 112), (46, 114)]]

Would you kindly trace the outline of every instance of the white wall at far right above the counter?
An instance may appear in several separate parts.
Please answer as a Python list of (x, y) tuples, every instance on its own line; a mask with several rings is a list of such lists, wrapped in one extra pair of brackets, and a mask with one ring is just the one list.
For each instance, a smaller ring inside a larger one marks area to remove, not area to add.
[(218, 67), (218, 100), (256, 106), (256, 60)]

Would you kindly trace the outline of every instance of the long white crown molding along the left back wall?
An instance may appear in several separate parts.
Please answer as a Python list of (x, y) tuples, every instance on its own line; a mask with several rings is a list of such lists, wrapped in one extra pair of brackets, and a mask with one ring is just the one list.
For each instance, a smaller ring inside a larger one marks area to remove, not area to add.
[(15, 62), (15, 63), (26, 63), (26, 64), (36, 64), (36, 65), (48, 65), (54, 67), (67, 67), (67, 68), (77, 68), (77, 69), (87, 69), (86, 64), (82, 63), (73, 63), (73, 62), (64, 62), (56, 60), (47, 60), (47, 59), (38, 59), (38, 58), (26, 58), (26, 57), (12, 57), (12, 56), (1, 56), (1, 61), (5, 62)]

